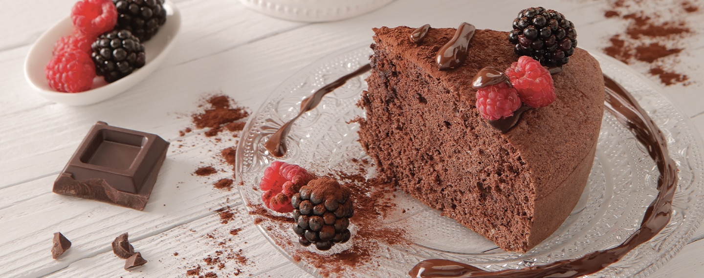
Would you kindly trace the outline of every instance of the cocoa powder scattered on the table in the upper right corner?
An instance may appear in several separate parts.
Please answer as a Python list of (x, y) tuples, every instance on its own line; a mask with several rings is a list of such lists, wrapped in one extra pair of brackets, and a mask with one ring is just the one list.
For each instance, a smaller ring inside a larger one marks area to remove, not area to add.
[[(643, 5), (653, 8), (643, 8)], [(698, 3), (697, 3), (698, 4)], [(690, 0), (617, 0), (608, 1), (605, 18), (619, 18), (627, 23), (623, 33), (609, 38), (603, 51), (618, 60), (633, 64), (650, 63), (650, 75), (662, 84), (689, 85), (689, 77), (677, 69), (679, 53), (691, 44), (696, 30), (682, 15), (695, 13), (699, 7)]]

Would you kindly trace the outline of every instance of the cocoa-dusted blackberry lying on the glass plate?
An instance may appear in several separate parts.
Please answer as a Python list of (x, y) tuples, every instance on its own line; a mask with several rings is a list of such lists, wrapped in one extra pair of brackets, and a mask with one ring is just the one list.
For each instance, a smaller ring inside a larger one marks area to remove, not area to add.
[(291, 197), (294, 206), (294, 232), (303, 246), (315, 244), (325, 251), (350, 239), (349, 218), (354, 210), (351, 191), (337, 180), (313, 179)]

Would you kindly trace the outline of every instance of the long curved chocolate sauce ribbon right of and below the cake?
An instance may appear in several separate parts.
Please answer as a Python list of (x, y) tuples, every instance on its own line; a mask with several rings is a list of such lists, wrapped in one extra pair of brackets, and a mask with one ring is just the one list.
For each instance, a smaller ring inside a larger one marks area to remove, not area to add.
[(648, 154), (658, 165), (660, 177), (658, 178), (658, 196), (650, 203), (643, 216), (641, 227), (631, 234), (619, 246), (602, 251), (595, 251), (584, 255), (582, 258), (558, 260), (546, 265), (536, 265), (520, 270), (501, 270), (489, 272), (472, 265), (453, 262), (451, 260), (431, 259), (423, 260), (411, 269), (411, 277), (503, 277), (503, 278), (530, 278), (530, 277), (579, 277), (603, 270), (612, 263), (624, 257), (629, 251), (645, 243), (658, 234), (672, 217), (672, 197), (677, 189), (677, 165), (670, 158), (667, 151), (665, 136), (655, 122), (650, 119), (636, 100), (614, 80), (604, 76), (606, 85), (605, 108), (614, 115), (619, 122), (631, 129), (636, 139), (645, 145)]

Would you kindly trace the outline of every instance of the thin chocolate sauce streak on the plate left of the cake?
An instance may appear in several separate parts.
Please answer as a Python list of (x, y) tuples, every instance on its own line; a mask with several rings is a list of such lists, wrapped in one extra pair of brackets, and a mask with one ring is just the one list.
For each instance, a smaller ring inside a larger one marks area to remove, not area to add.
[(370, 64), (363, 65), (361, 68), (358, 68), (357, 70), (350, 72), (349, 74), (343, 77), (340, 77), (338, 80), (335, 80), (330, 84), (326, 84), (322, 88), (318, 89), (318, 91), (315, 91), (315, 93), (308, 96), (306, 99), (303, 99), (303, 101), (301, 102), (301, 112), (298, 112), (298, 115), (296, 115), (296, 117), (279, 127), (279, 129), (274, 132), (274, 134), (272, 134), (271, 137), (267, 139), (267, 141), (264, 142), (264, 148), (266, 148), (272, 156), (275, 156), (277, 158), (284, 156), (287, 151), (286, 140), (284, 139), (289, 134), (289, 131), (291, 130), (291, 125), (293, 125), (294, 122), (298, 118), (300, 118), (301, 115), (303, 115), (303, 113), (313, 110), (315, 106), (318, 106), (318, 103), (320, 103), (322, 97), (325, 96), (327, 93), (334, 91), (339, 87), (342, 87), (342, 85), (344, 85), (348, 80), (351, 80), (354, 77), (358, 77), (359, 75), (362, 75), (364, 72), (367, 72), (371, 69), (372, 66)]

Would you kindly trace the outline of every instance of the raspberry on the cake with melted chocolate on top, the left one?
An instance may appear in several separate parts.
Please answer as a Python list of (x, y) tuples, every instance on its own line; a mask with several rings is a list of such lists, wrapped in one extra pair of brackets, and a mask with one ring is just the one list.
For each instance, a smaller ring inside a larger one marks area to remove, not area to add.
[(520, 107), (516, 89), (504, 82), (477, 89), (477, 108), (486, 120), (510, 117)]

